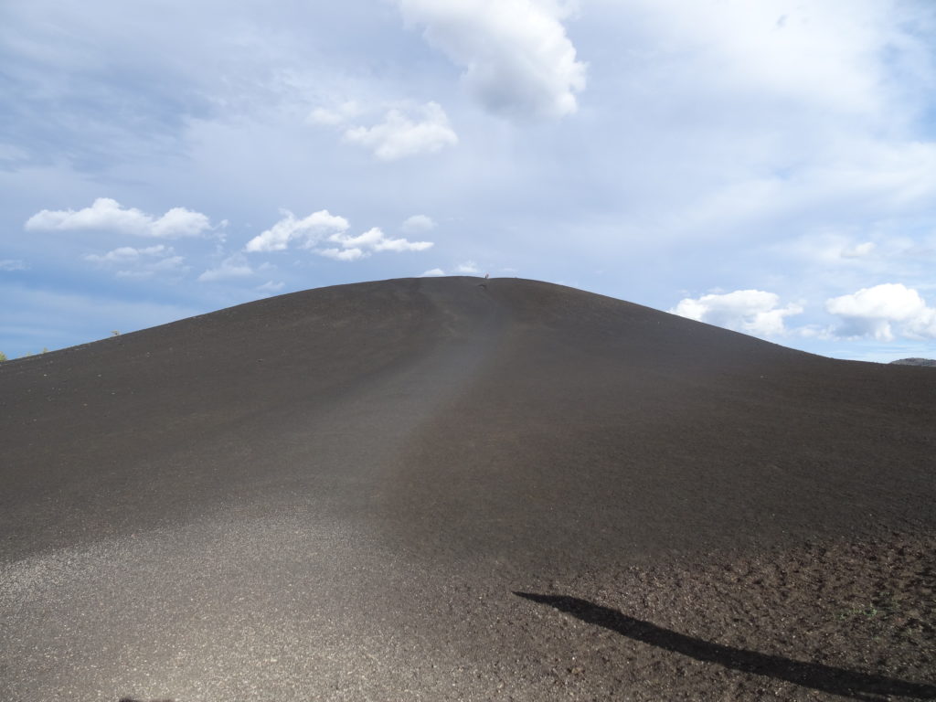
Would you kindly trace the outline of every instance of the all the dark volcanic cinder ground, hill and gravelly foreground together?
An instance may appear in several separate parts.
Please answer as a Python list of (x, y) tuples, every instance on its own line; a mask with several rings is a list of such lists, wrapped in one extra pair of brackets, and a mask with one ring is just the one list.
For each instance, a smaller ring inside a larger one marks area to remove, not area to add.
[(936, 699), (936, 372), (526, 280), (0, 365), (0, 699)]

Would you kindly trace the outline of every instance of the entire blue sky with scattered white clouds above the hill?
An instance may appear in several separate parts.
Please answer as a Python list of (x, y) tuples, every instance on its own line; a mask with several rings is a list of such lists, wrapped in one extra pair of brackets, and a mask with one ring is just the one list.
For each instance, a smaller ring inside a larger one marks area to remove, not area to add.
[(0, 5), (0, 351), (490, 273), (936, 357), (928, 0)]

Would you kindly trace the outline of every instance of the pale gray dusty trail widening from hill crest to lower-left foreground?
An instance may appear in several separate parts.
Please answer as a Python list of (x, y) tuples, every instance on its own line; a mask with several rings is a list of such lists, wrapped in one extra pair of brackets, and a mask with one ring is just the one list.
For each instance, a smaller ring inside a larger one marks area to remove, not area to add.
[[(273, 411), (272, 431), (235, 426), (144, 459), (140, 475), (188, 475), (190, 488), (233, 475), (186, 501), (183, 523), (5, 563), (0, 697), (425, 695), (411, 689), (426, 685), (419, 662), (445, 653), (412, 615), (437, 597), (435, 575), (382, 548), (374, 513), (409, 434), (471, 383), (500, 338), (504, 316), (484, 289), (458, 292), (476, 314), (450, 314), (436, 296), (439, 325), (421, 353), (327, 406)], [(235, 463), (241, 473), (227, 470)], [(448, 673), (440, 684), (424, 698), (447, 692)]]

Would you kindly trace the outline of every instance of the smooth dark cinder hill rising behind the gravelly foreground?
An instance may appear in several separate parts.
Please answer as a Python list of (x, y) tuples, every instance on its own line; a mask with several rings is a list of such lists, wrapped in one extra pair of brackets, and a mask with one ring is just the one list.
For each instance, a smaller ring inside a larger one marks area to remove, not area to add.
[(261, 300), (7, 362), (0, 397), (9, 555), (284, 496), (407, 548), (584, 557), (936, 496), (931, 373), (515, 279)]

